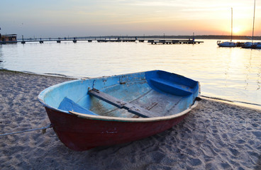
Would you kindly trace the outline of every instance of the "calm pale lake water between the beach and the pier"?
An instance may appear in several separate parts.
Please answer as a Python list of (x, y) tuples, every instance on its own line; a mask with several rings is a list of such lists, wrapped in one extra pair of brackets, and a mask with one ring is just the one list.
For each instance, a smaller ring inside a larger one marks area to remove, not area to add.
[(261, 105), (261, 50), (203, 41), (196, 45), (86, 41), (0, 45), (0, 68), (70, 77), (162, 69), (200, 81), (201, 95)]

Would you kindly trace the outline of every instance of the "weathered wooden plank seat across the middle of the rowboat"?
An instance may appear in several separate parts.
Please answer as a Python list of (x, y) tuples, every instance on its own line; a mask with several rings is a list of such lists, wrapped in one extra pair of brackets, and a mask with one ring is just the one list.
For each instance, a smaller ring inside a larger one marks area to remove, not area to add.
[(126, 101), (122, 101), (121, 99), (115, 98), (115, 97), (113, 97), (109, 94), (105, 94), (104, 92), (101, 92), (97, 89), (89, 90), (88, 94), (90, 96), (94, 96), (96, 98), (99, 98), (102, 101), (110, 103), (111, 105), (116, 106), (117, 108), (124, 108), (124, 109), (128, 110), (128, 112), (133, 113), (135, 115), (138, 115), (142, 118), (162, 116), (158, 113), (153, 113), (151, 111), (148, 111), (145, 108), (141, 108), (140, 106), (134, 105), (132, 103), (128, 103)]

